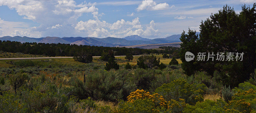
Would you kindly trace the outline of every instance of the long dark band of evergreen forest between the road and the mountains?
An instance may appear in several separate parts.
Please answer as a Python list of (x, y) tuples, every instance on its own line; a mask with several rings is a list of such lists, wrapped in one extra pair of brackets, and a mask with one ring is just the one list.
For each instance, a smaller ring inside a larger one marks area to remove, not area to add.
[(92, 56), (101, 56), (102, 53), (113, 51), (114, 55), (139, 55), (145, 53), (173, 53), (173, 50), (155, 50), (125, 47), (104, 47), (104, 46), (86, 46), (86, 45), (70, 45), (70, 44), (45, 44), (45, 43), (21, 43), (16, 41), (1, 41), (0, 50), (11, 53), (25, 53), (47, 56), (77, 56), (77, 53), (86, 51)]

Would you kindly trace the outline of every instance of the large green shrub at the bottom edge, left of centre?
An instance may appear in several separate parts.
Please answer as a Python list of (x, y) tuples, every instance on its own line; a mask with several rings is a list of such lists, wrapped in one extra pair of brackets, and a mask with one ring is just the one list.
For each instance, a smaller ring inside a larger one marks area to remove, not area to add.
[(48, 82), (33, 90), (23, 88), (20, 98), (28, 112), (67, 112), (65, 103), (68, 102), (68, 97)]

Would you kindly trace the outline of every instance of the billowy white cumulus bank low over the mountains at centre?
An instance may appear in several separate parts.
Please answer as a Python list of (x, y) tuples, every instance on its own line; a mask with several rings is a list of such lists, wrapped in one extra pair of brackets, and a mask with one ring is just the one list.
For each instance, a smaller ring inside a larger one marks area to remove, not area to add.
[(88, 34), (89, 37), (123, 37), (128, 35), (155, 37), (160, 33), (156, 29), (154, 21), (151, 21), (149, 26), (143, 30), (139, 18), (134, 18), (132, 21), (121, 19), (113, 24), (100, 20), (80, 21), (77, 23), (75, 29), (80, 33)]

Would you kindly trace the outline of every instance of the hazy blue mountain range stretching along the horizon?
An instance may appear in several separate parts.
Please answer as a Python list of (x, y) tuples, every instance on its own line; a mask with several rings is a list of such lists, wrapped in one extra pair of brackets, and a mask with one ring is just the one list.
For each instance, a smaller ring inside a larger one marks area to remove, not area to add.
[[(199, 34), (200, 32), (197, 32)], [(18, 42), (36, 42), (36, 43), (62, 43), (62, 44), (76, 44), (76, 45), (89, 45), (89, 46), (132, 46), (132, 45), (143, 45), (143, 44), (164, 44), (180, 42), (181, 34), (172, 35), (166, 38), (147, 39), (142, 38), (138, 35), (131, 35), (124, 38), (95, 38), (95, 37), (42, 37), (42, 38), (31, 38), (31, 37), (20, 37), (20, 36), (4, 36), (0, 37), (0, 40), (10, 40)]]

